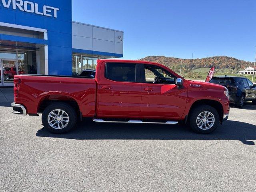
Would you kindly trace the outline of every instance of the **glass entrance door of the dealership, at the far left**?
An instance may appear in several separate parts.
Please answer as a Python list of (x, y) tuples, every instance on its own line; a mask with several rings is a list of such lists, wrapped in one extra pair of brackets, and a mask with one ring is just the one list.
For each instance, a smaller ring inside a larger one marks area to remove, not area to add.
[(18, 74), (16, 60), (2, 59), (0, 62), (0, 86), (13, 86), (14, 75)]

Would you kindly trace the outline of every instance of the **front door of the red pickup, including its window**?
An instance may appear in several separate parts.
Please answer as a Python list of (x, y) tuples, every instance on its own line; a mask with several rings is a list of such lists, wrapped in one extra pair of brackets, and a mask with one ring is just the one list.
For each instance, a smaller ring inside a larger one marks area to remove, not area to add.
[(148, 118), (178, 119), (186, 108), (186, 84), (178, 89), (176, 76), (152, 64), (141, 64), (141, 115)]

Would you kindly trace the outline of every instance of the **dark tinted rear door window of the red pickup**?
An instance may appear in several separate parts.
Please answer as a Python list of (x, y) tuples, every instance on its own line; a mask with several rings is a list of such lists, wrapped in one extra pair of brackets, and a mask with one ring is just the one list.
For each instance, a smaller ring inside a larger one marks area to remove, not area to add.
[(107, 63), (105, 77), (113, 81), (136, 82), (136, 64)]

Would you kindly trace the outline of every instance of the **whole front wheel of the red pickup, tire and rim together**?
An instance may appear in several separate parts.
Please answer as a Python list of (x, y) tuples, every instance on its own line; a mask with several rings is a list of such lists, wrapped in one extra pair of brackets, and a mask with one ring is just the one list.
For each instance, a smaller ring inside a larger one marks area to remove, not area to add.
[(212, 106), (197, 106), (189, 114), (189, 124), (194, 132), (208, 134), (218, 127), (220, 117), (216, 109)]

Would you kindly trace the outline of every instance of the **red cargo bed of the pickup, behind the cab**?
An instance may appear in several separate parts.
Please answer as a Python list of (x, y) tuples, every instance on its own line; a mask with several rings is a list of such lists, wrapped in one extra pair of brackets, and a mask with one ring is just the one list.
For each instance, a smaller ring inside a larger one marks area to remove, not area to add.
[(57, 75), (16, 75), (15, 78), (21, 83), (14, 101), (26, 106), (30, 115), (37, 114), (42, 101), (58, 99), (76, 101), (82, 116), (95, 114), (95, 78)]

